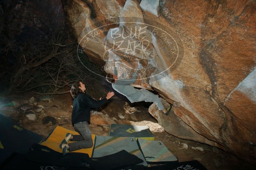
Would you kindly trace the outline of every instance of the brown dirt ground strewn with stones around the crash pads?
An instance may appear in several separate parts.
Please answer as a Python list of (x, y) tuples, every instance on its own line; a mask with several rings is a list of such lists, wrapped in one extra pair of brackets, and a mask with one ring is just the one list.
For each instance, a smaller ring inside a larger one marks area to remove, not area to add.
[[(33, 103), (26, 103), (31, 97), (34, 97), (35, 101)], [(44, 99), (46, 100), (42, 101)], [(0, 96), (1, 114), (4, 114), (20, 126), (43, 136), (43, 138), (46, 138), (57, 125), (74, 130), (71, 124), (73, 101), (70, 94), (55, 95), (52, 98), (44, 99), (42, 99), (42, 96), (38, 96), (35, 93), (16, 94), (8, 97)], [(24, 102), (25, 104), (23, 104)], [(34, 113), (33, 109), (30, 110), (31, 114), (35, 114), (36, 120), (29, 120), (28, 117), (26, 117), (29, 111), (24, 113), (24, 111), (21, 110), (21, 107), (26, 104), (42, 105), (44, 107), (40, 112), (34, 111)], [(168, 134), (149, 114), (148, 107), (150, 104), (151, 103), (144, 102), (132, 104), (129, 103), (125, 97), (117, 95), (103, 107), (103, 110), (97, 109), (97, 111), (109, 113), (109, 115), (115, 117), (120, 124), (148, 126), (155, 135), (155, 140), (161, 140), (169, 151), (178, 158), (179, 162), (198, 160), (209, 170), (254, 169), (252, 164), (234, 155), (228, 154), (217, 147), (177, 138)], [(17, 105), (20, 106), (17, 107)], [(140, 114), (141, 118), (145, 118), (145, 120), (134, 121), (131, 120), (129, 116), (124, 118), (118, 116), (120, 113), (126, 115), (131, 108), (136, 108), (137, 111), (133, 114)], [(49, 120), (43, 117), (44, 114), (48, 116)], [(92, 134), (108, 136), (110, 126), (90, 124), (89, 127)], [(188, 147), (186, 147), (186, 145)], [(203, 151), (195, 149), (196, 147), (202, 148)]]

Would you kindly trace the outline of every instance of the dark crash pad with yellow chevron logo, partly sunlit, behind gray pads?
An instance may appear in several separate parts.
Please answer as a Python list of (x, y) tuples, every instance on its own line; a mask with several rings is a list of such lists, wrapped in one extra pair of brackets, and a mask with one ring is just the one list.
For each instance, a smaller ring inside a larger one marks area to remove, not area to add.
[(130, 124), (111, 124), (108, 136), (155, 140), (155, 136), (147, 126), (135, 126)]

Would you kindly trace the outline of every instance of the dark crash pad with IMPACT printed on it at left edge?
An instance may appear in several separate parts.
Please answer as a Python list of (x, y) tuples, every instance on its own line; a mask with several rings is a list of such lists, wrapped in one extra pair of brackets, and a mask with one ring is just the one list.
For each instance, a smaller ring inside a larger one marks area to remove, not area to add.
[(0, 114), (0, 164), (13, 152), (25, 154), (34, 143), (41, 143), (43, 138), (15, 124)]

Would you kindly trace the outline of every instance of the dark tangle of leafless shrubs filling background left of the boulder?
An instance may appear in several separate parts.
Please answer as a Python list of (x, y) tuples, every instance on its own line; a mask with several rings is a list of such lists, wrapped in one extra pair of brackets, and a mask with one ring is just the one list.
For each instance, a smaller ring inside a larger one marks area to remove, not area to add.
[[(8, 94), (61, 94), (81, 80), (89, 94), (100, 96), (97, 85), (101, 86), (101, 78), (93, 78), (79, 62), (77, 42), (66, 25), (59, 0), (3, 0), (0, 12), (2, 90), (7, 89)], [(87, 65), (97, 68), (89, 62)]]

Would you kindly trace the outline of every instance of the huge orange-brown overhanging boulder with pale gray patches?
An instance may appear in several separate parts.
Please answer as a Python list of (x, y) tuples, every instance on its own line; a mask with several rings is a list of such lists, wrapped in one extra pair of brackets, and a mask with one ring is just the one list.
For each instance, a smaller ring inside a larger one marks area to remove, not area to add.
[(80, 46), (102, 71), (174, 104), (151, 114), (175, 136), (256, 162), (256, 2), (67, 0)]

